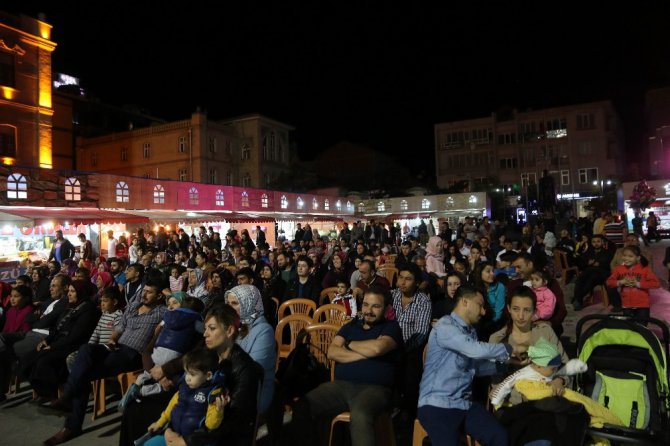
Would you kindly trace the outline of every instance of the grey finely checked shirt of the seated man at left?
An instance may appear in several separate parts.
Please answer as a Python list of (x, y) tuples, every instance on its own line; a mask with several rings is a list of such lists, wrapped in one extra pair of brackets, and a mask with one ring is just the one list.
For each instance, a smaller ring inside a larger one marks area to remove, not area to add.
[(129, 304), (119, 322), (114, 325), (114, 331), (121, 333), (118, 343), (138, 353), (147, 348), (166, 311), (165, 305), (156, 305), (150, 311), (139, 314), (141, 306), (142, 302), (137, 301)]

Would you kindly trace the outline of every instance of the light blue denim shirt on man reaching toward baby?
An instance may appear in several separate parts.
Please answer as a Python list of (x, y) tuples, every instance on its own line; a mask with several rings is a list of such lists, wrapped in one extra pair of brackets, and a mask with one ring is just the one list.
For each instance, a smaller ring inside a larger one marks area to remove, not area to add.
[(496, 373), (512, 347), (477, 340), (477, 332), (456, 313), (442, 317), (428, 338), (428, 353), (419, 390), (419, 407), (468, 410), (475, 375)]

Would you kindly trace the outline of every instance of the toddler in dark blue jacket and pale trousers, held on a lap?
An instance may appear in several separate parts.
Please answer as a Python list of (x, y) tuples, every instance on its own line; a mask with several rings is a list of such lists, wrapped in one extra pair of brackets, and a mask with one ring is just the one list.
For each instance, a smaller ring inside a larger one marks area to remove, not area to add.
[[(204, 327), (198, 310), (202, 310), (200, 300), (188, 297), (181, 291), (172, 293), (168, 299), (168, 311), (165, 312), (163, 321), (156, 327), (158, 337), (151, 353), (151, 360), (155, 365), (163, 365), (183, 355), (191, 349), (194, 340), (202, 336)], [(161, 391), (160, 383), (154, 381), (151, 373), (145, 370), (130, 386), (119, 407), (125, 407), (137, 394), (148, 396)]]

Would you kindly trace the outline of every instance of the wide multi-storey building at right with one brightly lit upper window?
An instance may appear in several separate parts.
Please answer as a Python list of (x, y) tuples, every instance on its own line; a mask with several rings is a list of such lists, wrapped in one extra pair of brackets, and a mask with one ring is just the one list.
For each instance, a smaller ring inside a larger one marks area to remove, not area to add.
[(537, 197), (546, 170), (559, 199), (601, 196), (608, 180), (612, 186), (621, 179), (623, 136), (610, 101), (439, 123), (438, 187), (487, 185), (491, 193), (520, 197), (521, 205)]

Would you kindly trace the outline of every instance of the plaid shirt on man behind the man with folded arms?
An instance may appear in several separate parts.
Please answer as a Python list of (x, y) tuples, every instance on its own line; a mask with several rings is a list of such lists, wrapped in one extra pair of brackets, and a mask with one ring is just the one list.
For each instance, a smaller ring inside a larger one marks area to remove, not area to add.
[(391, 291), (391, 296), (393, 297), (396, 320), (402, 329), (405, 349), (411, 350), (422, 345), (428, 338), (428, 331), (430, 330), (432, 314), (430, 298), (421, 292), (417, 292), (414, 299), (403, 308), (402, 291), (396, 288)]

